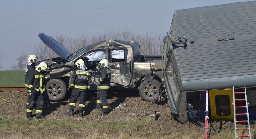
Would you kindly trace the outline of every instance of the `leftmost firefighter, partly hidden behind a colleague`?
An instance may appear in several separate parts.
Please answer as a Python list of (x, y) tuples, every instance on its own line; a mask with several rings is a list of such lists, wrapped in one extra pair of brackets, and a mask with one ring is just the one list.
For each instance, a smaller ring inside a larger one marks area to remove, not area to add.
[[(36, 57), (35, 55), (29, 55), (28, 57), (28, 63), (27, 63), (27, 67), (25, 69), (25, 87), (28, 89), (28, 97), (27, 97), (27, 102), (26, 105), (29, 104), (29, 99), (30, 99), (30, 95), (31, 95), (31, 90), (28, 87), (28, 76), (29, 74), (33, 74), (33, 71), (35, 70), (35, 63), (36, 63), (36, 59), (38, 59), (38, 57)], [(36, 102), (35, 102), (36, 105)], [(34, 106), (36, 107), (36, 106)]]

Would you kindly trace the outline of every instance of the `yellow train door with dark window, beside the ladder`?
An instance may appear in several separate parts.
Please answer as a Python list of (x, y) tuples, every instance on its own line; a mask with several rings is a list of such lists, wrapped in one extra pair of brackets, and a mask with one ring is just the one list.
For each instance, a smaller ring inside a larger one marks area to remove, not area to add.
[(209, 99), (212, 119), (234, 120), (233, 90), (210, 90)]

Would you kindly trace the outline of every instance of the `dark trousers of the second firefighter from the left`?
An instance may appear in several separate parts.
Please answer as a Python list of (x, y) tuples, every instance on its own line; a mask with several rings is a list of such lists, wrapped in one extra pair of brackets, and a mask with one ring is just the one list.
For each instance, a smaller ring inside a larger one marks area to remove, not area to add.
[(41, 94), (40, 91), (36, 91), (35, 89), (31, 92), (31, 94), (28, 94), (27, 98), (27, 110), (26, 110), (26, 115), (28, 117), (32, 117), (32, 109), (36, 104), (36, 117), (41, 117), (42, 116), (42, 109), (43, 109), (43, 104), (44, 104), (44, 98), (43, 94)]

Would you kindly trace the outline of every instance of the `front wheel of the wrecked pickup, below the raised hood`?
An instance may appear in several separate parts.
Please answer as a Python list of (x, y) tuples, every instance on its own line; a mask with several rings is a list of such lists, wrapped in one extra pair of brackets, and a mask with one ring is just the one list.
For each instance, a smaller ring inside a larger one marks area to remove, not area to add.
[(52, 79), (47, 82), (45, 88), (50, 101), (61, 101), (67, 92), (67, 86), (61, 79)]

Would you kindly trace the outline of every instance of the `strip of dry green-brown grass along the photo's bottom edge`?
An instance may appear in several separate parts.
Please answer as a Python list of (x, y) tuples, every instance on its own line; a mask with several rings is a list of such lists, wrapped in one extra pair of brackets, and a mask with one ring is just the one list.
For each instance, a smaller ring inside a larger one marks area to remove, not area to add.
[[(31, 121), (25, 119), (7, 119), (0, 117), (1, 138), (204, 138), (204, 133), (197, 130), (183, 133), (160, 130), (152, 118), (134, 119), (122, 122), (89, 123), (83, 119), (47, 119)], [(252, 131), (255, 134), (255, 130)], [(210, 133), (210, 138), (234, 138), (233, 131), (222, 130)]]

